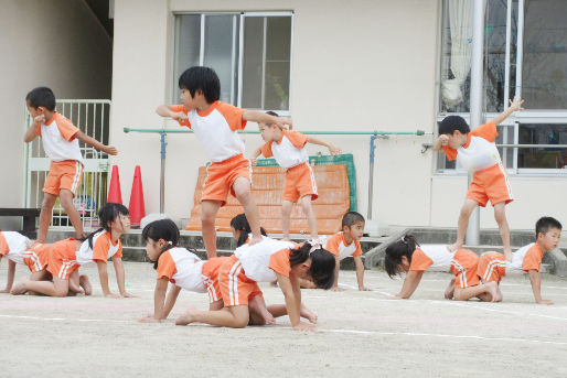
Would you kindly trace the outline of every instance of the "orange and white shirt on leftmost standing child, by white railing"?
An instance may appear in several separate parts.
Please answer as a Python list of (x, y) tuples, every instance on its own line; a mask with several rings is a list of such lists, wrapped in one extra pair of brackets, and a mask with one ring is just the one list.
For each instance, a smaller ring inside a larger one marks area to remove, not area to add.
[(58, 112), (55, 111), (47, 122), (35, 129), (35, 132), (41, 137), (43, 150), (51, 161), (76, 160), (84, 164), (78, 140), (75, 138), (78, 129)]

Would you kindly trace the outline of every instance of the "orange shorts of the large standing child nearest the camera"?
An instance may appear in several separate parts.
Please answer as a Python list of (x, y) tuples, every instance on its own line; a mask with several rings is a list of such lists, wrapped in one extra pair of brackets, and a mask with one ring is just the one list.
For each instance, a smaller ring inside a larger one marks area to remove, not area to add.
[(243, 154), (232, 156), (218, 163), (212, 163), (206, 168), (206, 179), (203, 185), (203, 201), (221, 201), (224, 206), (228, 192), (233, 196), (233, 184), (238, 177), (245, 177), (252, 183), (250, 161)]

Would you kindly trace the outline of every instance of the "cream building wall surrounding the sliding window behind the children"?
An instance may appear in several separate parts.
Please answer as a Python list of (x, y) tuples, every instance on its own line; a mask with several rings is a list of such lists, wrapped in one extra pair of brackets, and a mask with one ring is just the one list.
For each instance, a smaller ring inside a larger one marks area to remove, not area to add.
[[(113, 82), (113, 142), (120, 155), (122, 194), (129, 198), (136, 164), (142, 169), (146, 210), (159, 210), (159, 136), (128, 133), (124, 127), (178, 126), (154, 114), (170, 102), (173, 13), (201, 11), (293, 11), (290, 110), (297, 130), (434, 131), (437, 115), (438, 0), (234, 1), (117, 0)], [(237, 8), (235, 8), (237, 7)], [(317, 45), (317, 48), (313, 46)], [(256, 125), (249, 123), (249, 129)], [(323, 137), (322, 137), (323, 138)], [(354, 154), (359, 210), (368, 204), (368, 137), (324, 137)], [(249, 154), (261, 143), (245, 136)], [(434, 154), (421, 153), (432, 137), (392, 137), (376, 141), (373, 214), (381, 225), (456, 226), (467, 177), (434, 174)], [(310, 153), (324, 149), (309, 145)], [(188, 217), (199, 166), (207, 161), (191, 134), (168, 136), (165, 213)], [(565, 193), (556, 177), (541, 196), (539, 212), (566, 209), (554, 198)], [(541, 181), (512, 177), (516, 197), (538, 190)], [(561, 192), (563, 191), (563, 192)], [(557, 213), (564, 212), (564, 214)], [(510, 205), (513, 228), (532, 228), (533, 203)], [(537, 215), (537, 216), (538, 216)], [(481, 213), (482, 227), (495, 227), (492, 209)]]

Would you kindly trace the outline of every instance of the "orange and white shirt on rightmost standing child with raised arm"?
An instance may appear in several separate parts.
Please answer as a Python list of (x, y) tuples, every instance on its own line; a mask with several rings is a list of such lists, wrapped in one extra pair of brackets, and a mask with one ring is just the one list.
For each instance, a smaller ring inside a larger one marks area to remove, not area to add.
[(454, 160), (470, 172), (485, 170), (501, 163), (500, 152), (494, 141), (499, 132), (494, 122), (479, 126), (468, 134), (468, 141), (457, 150), (443, 145), (447, 159)]

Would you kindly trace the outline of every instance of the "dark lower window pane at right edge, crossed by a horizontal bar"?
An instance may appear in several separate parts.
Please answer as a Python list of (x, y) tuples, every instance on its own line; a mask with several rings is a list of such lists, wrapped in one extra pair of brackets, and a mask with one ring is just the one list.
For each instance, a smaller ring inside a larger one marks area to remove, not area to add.
[[(567, 125), (521, 123), (520, 144), (567, 144)], [(517, 168), (567, 168), (567, 149), (518, 149)]]

